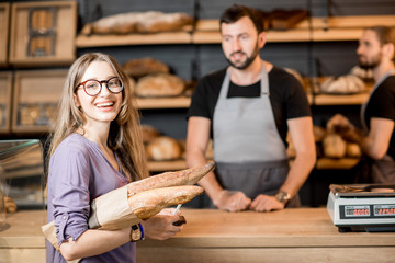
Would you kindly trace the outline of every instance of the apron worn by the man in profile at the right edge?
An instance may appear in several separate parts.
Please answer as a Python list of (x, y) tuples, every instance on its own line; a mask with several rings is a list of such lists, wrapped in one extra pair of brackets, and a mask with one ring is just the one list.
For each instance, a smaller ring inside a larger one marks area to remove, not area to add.
[[(386, 78), (394, 73), (395, 70), (390, 70), (374, 84), (366, 103), (364, 103), (361, 107), (361, 123), (365, 134), (369, 133), (368, 125), (364, 118), (366, 105), (377, 87), (383, 83)], [(391, 156), (385, 155), (381, 160), (373, 160), (371, 158), (368, 158), (368, 161), (370, 167), (369, 175), (371, 176), (373, 183), (395, 183), (395, 160)]]

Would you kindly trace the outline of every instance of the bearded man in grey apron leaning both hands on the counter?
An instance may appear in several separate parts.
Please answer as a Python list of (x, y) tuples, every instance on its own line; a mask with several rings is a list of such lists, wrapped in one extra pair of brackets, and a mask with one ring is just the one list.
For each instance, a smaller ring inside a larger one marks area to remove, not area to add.
[[(206, 163), (213, 138), (216, 171), (199, 182), (212, 207), (270, 211), (300, 206), (297, 193), (316, 161), (303, 87), (260, 58), (267, 35), (258, 11), (234, 4), (222, 14), (219, 30), (229, 66), (203, 77), (192, 95), (187, 163)], [(287, 132), (296, 150), (291, 168)]]

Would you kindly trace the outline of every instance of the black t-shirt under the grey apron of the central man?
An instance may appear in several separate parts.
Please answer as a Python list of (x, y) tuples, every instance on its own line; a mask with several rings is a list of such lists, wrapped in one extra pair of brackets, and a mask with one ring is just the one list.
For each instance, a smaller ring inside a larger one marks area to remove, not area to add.
[[(188, 117), (200, 116), (213, 121), (215, 104), (219, 96), (225, 73), (226, 69), (222, 69), (202, 78), (192, 95)], [(270, 103), (272, 105), (276, 128), (285, 144), (287, 133), (286, 121), (290, 118), (312, 116), (312, 113), (306, 93), (296, 78), (278, 67), (273, 67), (268, 76)], [(238, 87), (230, 82), (227, 96), (260, 96), (260, 81), (244, 87)]]

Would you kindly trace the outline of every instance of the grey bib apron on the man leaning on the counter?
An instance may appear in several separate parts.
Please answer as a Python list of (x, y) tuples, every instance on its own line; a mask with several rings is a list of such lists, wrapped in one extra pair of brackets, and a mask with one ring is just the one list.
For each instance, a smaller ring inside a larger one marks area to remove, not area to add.
[[(214, 110), (214, 160), (219, 184), (253, 199), (274, 195), (290, 170), (285, 145), (269, 100), (268, 72), (262, 62), (260, 98), (227, 98), (230, 68)], [(298, 196), (289, 206), (300, 205)]]

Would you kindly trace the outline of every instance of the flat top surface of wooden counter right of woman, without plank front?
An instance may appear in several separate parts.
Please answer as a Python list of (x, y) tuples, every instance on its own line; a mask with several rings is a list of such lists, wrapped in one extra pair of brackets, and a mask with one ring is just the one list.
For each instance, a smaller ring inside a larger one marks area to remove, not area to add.
[(146, 241), (182, 247), (221, 247), (224, 240), (228, 247), (395, 245), (392, 232), (338, 232), (326, 208), (289, 208), (272, 213), (181, 210), (188, 222), (182, 232), (166, 243)]

